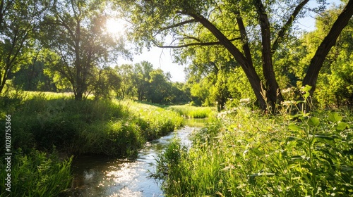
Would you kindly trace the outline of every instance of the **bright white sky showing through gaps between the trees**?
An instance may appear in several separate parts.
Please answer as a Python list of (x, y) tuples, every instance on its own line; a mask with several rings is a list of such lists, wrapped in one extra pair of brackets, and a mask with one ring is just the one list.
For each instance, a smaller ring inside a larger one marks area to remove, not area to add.
[[(340, 4), (339, 0), (328, 0), (328, 3), (331, 4)], [(314, 3), (309, 3), (309, 4), (314, 4)], [(328, 8), (330, 7), (328, 6)], [(313, 18), (313, 15), (308, 16), (306, 18), (301, 18), (299, 21), (299, 28), (306, 30), (306, 31), (312, 31), (315, 30), (315, 19)], [(143, 53), (141, 54), (135, 54), (133, 56), (133, 61), (126, 61), (126, 60), (121, 60), (118, 62), (119, 65), (124, 64), (124, 63), (140, 63), (141, 61), (148, 61), (152, 63), (153, 67), (155, 69), (160, 68), (164, 72), (170, 72), (172, 75), (172, 82), (185, 82), (185, 72), (184, 68), (186, 65), (179, 65), (177, 63), (173, 63), (173, 57), (172, 57), (172, 49), (160, 49), (157, 48), (156, 46), (151, 47), (150, 51), (147, 49), (143, 49)]]

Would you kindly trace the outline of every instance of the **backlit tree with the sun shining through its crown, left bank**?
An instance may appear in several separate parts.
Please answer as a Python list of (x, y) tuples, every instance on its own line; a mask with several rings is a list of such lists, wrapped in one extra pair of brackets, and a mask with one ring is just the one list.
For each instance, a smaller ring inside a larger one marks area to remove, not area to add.
[(102, 1), (53, 1), (49, 7), (42, 44), (60, 57), (53, 69), (71, 82), (79, 101), (95, 83), (95, 70), (128, 52), (121, 39), (104, 30), (107, 15)]

